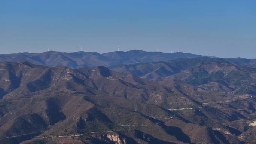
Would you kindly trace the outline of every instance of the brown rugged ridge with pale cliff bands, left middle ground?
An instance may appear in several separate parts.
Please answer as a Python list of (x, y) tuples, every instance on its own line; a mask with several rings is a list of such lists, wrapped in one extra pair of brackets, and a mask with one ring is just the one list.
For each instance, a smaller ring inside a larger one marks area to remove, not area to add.
[[(42, 90), (68, 90), (82, 91), (85, 94), (115, 94), (134, 101), (147, 102), (153, 101), (153, 96), (148, 95), (161, 93), (170, 96), (166, 93), (171, 93), (170, 89), (157, 83), (131, 74), (116, 73), (103, 66), (74, 70), (64, 66), (30, 67), (27, 63), (2, 62), (0, 73), (0, 87), (6, 93), (4, 98), (17, 98), (33, 92), (39, 94)], [(164, 101), (157, 102), (160, 104)]]

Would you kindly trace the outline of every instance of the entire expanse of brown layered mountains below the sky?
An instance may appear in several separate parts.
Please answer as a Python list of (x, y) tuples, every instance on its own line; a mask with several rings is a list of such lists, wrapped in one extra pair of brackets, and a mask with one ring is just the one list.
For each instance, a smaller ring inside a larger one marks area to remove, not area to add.
[(254, 59), (132, 50), (0, 55), (0, 143), (244, 144)]

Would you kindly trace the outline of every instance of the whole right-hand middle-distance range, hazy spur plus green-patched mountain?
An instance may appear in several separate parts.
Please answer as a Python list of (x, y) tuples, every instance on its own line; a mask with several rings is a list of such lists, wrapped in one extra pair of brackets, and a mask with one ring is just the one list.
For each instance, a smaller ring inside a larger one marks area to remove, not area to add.
[(151, 81), (176, 79), (209, 91), (233, 92), (235, 95), (256, 94), (256, 69), (237, 66), (220, 58), (176, 59), (109, 68)]

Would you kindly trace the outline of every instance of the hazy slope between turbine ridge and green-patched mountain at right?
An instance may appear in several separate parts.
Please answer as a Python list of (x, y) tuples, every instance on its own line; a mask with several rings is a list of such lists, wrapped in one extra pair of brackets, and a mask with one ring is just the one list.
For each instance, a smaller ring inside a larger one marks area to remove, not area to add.
[(119, 73), (129, 73), (143, 79), (159, 81), (205, 61), (213, 61), (213, 59), (176, 59), (152, 63), (113, 65), (108, 68)]

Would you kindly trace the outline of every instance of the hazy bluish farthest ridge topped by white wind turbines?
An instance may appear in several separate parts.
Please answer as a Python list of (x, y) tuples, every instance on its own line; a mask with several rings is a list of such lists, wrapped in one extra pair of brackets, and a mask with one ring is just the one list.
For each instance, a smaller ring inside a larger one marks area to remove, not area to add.
[(140, 62), (158, 62), (168, 61), (178, 58), (197, 58), (200, 55), (190, 53), (162, 53), (162, 52), (146, 52), (142, 50), (130, 50), (127, 52), (43, 52), (43, 53), (15, 53), (1, 54), (0, 60), (10, 62), (28, 61), (33, 64), (46, 65), (49, 67), (67, 66), (70, 68), (95, 67), (119, 64), (134, 64)]

